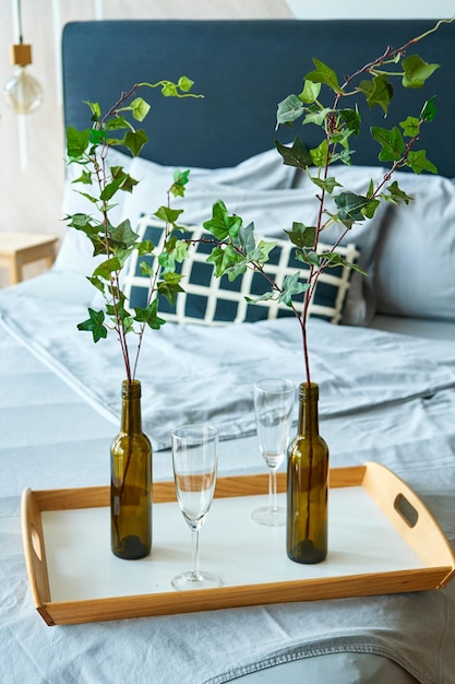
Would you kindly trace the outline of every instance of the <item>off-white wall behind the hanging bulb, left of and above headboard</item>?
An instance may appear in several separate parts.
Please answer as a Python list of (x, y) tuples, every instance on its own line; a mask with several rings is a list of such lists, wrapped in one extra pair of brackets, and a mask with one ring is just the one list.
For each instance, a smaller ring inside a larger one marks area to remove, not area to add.
[[(286, 0), (23, 0), (24, 43), (33, 48), (29, 72), (41, 84), (44, 101), (19, 118), (1, 91), (12, 74), (10, 45), (17, 42), (16, 0), (0, 0), (0, 240), (2, 231), (64, 232), (63, 127), (60, 70), (61, 26), (91, 19), (291, 19)], [(26, 267), (27, 272), (34, 266)], [(0, 269), (0, 287), (8, 283)]]

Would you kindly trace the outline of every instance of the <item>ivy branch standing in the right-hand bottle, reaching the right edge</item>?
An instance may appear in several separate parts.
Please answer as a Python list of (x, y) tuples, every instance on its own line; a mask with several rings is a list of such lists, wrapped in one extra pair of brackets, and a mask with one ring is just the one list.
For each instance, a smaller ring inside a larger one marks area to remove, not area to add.
[[(319, 59), (313, 58), (314, 69), (307, 73), (303, 89), (299, 94), (290, 94), (277, 107), (277, 127), (286, 125), (292, 127), (296, 120), (302, 119), (303, 125), (314, 125), (321, 128), (321, 143), (309, 149), (300, 138), (296, 138), (290, 146), (283, 145), (275, 140), (275, 146), (283, 157), (284, 164), (294, 166), (308, 174), (315, 186), (315, 201), (318, 202), (318, 219), (314, 226), (307, 226), (301, 222), (294, 222), (290, 229), (285, 231), (295, 246), (296, 258), (302, 262), (300, 273), (286, 276), (283, 285), (278, 285), (266, 274), (266, 262), (276, 243), (260, 239), (256, 241), (254, 225), (247, 226), (240, 216), (229, 215), (223, 202), (218, 200), (212, 209), (212, 219), (204, 223), (204, 227), (214, 236), (216, 246), (207, 258), (215, 266), (215, 274), (227, 274), (230, 281), (253, 269), (265, 276), (268, 290), (255, 299), (256, 303), (266, 299), (278, 299), (292, 310), (299, 321), (302, 334), (302, 347), (306, 368), (306, 381), (311, 382), (310, 361), (308, 352), (307, 322), (310, 304), (322, 273), (330, 268), (346, 266), (366, 274), (356, 263), (349, 262), (337, 252), (337, 247), (355, 225), (371, 219), (381, 201), (394, 204), (411, 201), (396, 181), (392, 181), (393, 174), (400, 168), (408, 167), (416, 174), (422, 172), (438, 173), (436, 167), (427, 158), (424, 150), (416, 150), (420, 141), (421, 128), (435, 116), (435, 97), (428, 99), (417, 116), (408, 116), (398, 126), (391, 129), (372, 127), (373, 140), (380, 145), (379, 161), (390, 168), (382, 180), (374, 185), (371, 179), (364, 194), (358, 194), (343, 189), (336, 177), (331, 175), (331, 165), (342, 163), (351, 164), (354, 150), (350, 140), (357, 137), (361, 128), (361, 116), (357, 105), (344, 105), (347, 98), (362, 96), (369, 108), (379, 106), (388, 114), (393, 99), (391, 79), (400, 79), (405, 89), (420, 89), (440, 67), (427, 63), (418, 55), (406, 56), (410, 46), (415, 45), (430, 33), (439, 28), (442, 23), (452, 20), (442, 20), (424, 34), (412, 38), (399, 48), (387, 47), (383, 55), (364, 64), (351, 75), (340, 82), (336, 72)], [(332, 104), (326, 106), (321, 99), (323, 86), (332, 95)], [(332, 198), (336, 211), (330, 212), (326, 207), (327, 198)], [(322, 251), (319, 248), (320, 236), (328, 226), (338, 224), (340, 231), (334, 244)], [(297, 299), (300, 295), (300, 303)], [(302, 302), (301, 302), (302, 299)]]

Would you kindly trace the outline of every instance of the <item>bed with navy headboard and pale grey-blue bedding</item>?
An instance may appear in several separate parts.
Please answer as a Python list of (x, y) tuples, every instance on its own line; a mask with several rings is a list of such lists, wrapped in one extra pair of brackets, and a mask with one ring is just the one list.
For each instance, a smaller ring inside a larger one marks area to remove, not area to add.
[[(311, 58), (348, 73), (434, 23), (71, 23), (62, 36), (62, 125), (87, 126), (84, 101), (106, 106), (137, 81), (190, 76), (204, 99), (154, 101), (143, 156), (118, 153), (141, 182), (116, 211), (136, 224), (148, 221), (173, 168), (191, 168), (181, 204), (189, 224), (209, 217), (212, 202), (221, 198), (231, 212), (274, 235), (282, 222), (307, 211), (304, 180), (282, 164), (273, 141), (292, 140), (295, 131), (274, 130), (276, 105), (300, 89)], [(397, 120), (436, 93), (438, 119), (426, 131), (424, 149), (438, 174), (400, 172), (414, 203), (390, 207), (368, 232), (359, 231), (355, 240), (369, 276), (351, 281), (340, 322), (310, 321), (332, 468), (366, 461), (388, 467), (429, 507), (452, 545), (455, 162), (447, 142), (454, 31), (441, 26), (417, 50), (442, 66), (423, 94), (411, 92), (405, 103), (396, 93)], [(376, 121), (368, 110), (364, 117)], [(340, 173), (360, 187), (364, 167), (373, 177), (382, 172), (369, 139), (357, 149), (354, 166)], [(62, 166), (62, 173), (65, 196), (56, 211), (63, 215), (79, 211), (81, 198), (71, 170)], [(85, 278), (91, 263), (87, 245), (69, 229), (52, 269), (0, 293), (2, 682), (455, 682), (455, 582), (391, 595), (45, 625), (24, 563), (21, 494), (26, 487), (106, 484), (119, 421), (123, 378), (116, 341), (103, 341), (101, 351), (75, 328), (96, 296)], [(131, 287), (137, 285), (133, 275)], [(219, 476), (264, 472), (251, 387), (264, 362), (268, 374), (302, 381), (299, 344), (292, 318), (168, 322), (148, 335), (139, 375), (154, 480), (171, 477), (171, 426), (195, 420), (220, 431)]]

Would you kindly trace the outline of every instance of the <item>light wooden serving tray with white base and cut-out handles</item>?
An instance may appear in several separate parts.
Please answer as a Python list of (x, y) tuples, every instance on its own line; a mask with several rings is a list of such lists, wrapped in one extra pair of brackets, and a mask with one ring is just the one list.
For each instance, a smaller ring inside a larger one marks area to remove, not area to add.
[[(25, 490), (22, 530), (33, 599), (48, 625), (235, 606), (421, 591), (444, 587), (455, 555), (416, 494), (378, 463), (331, 470), (330, 552), (318, 565), (288, 559), (285, 528), (251, 520), (267, 502), (267, 474), (219, 477), (201, 531), (201, 568), (217, 589), (175, 591), (191, 567), (190, 530), (173, 482), (154, 483), (151, 556), (109, 547), (109, 487)], [(278, 474), (283, 500), (285, 473)]]

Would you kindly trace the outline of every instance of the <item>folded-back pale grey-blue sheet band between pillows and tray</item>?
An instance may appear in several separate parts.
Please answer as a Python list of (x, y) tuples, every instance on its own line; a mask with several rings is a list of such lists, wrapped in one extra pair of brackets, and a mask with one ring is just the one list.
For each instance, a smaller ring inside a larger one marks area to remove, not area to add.
[[(84, 306), (55, 302), (37, 307), (26, 292), (10, 292), (1, 299), (0, 317), (23, 344), (118, 423), (120, 345), (113, 334), (94, 344), (91, 333), (76, 329), (86, 318)], [(348, 420), (455, 388), (455, 345), (448, 340), (430, 343), (313, 319), (309, 345), (322, 418)], [(166, 323), (159, 331), (147, 330), (136, 377), (154, 449), (169, 448), (176, 421), (213, 423), (223, 440), (254, 435), (252, 386), (264, 376), (288, 377), (296, 386), (304, 380), (300, 327), (294, 318), (223, 327)]]

